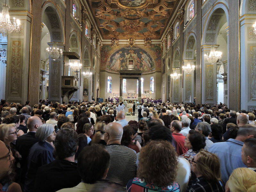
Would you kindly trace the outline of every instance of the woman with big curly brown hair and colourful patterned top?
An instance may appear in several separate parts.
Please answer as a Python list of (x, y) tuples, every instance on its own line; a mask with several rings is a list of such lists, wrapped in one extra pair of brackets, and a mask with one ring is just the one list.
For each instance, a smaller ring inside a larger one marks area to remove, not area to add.
[(178, 160), (172, 144), (165, 140), (149, 141), (140, 152), (138, 177), (128, 182), (127, 191), (179, 192), (180, 186), (175, 182), (177, 170)]

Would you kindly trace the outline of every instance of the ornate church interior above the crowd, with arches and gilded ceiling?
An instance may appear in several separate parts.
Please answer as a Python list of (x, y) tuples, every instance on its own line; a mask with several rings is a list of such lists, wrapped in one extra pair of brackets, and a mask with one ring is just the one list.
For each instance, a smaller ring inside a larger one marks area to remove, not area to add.
[(118, 97), (256, 109), (255, 0), (1, 3), (16, 25), (0, 27), (9, 103)]

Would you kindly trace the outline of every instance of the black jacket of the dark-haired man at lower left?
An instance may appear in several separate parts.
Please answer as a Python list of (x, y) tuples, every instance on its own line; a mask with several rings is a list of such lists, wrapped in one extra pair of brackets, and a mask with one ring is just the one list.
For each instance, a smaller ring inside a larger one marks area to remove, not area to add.
[(55, 192), (71, 188), (81, 182), (77, 163), (56, 159), (38, 168), (36, 173), (36, 192)]

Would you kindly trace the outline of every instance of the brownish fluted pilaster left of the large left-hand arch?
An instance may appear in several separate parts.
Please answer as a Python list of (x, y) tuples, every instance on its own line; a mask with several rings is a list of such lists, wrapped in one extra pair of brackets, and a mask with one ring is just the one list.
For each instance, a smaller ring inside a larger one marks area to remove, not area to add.
[(42, 0), (32, 2), (32, 25), (30, 42), (30, 62), (28, 71), (28, 100), (31, 105), (39, 102), (41, 10)]

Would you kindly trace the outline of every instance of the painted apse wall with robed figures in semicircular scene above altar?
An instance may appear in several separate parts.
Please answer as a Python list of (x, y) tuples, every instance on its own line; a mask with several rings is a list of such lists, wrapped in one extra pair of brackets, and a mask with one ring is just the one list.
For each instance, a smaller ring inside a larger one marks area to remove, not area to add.
[(149, 49), (139, 46), (112, 48), (105, 45), (101, 49), (101, 70), (112, 72), (136, 70), (144, 73), (161, 70), (161, 49), (154, 45)]

